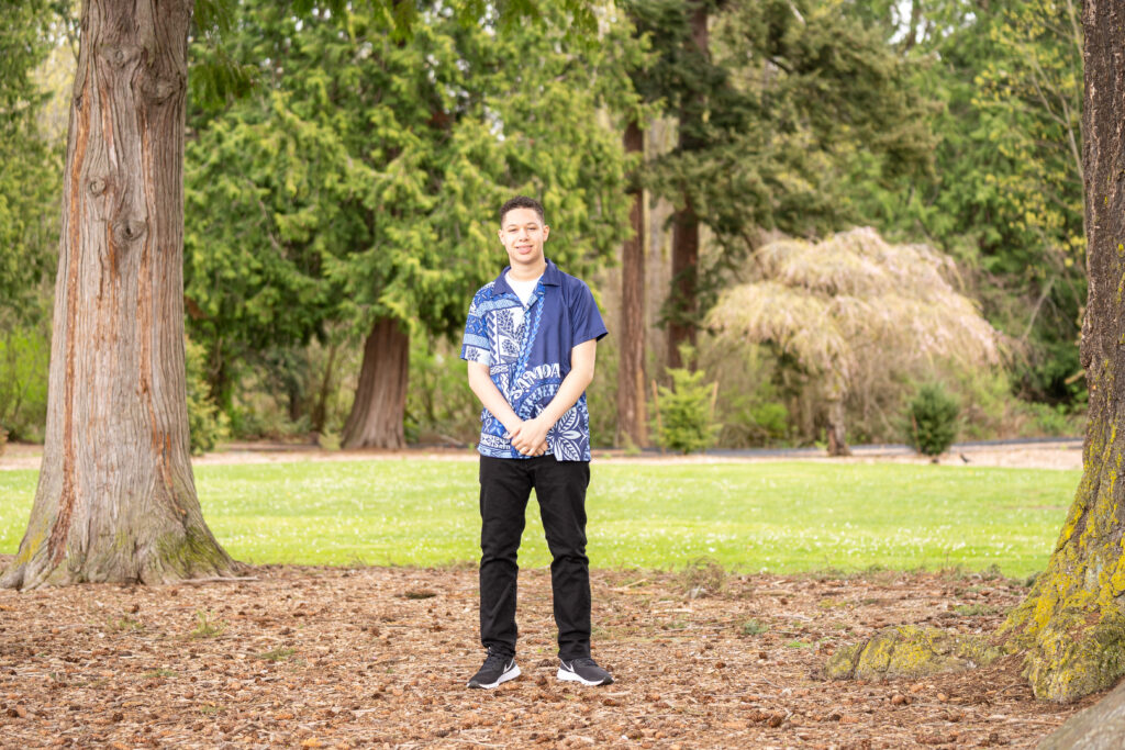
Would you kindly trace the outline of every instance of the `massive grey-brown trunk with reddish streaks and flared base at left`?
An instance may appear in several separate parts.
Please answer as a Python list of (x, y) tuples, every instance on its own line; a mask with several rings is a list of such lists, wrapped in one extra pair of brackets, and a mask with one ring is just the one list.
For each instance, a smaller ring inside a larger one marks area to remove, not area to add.
[(204, 523), (188, 448), (183, 129), (191, 6), (82, 6), (43, 468), (3, 586), (159, 584), (238, 568)]

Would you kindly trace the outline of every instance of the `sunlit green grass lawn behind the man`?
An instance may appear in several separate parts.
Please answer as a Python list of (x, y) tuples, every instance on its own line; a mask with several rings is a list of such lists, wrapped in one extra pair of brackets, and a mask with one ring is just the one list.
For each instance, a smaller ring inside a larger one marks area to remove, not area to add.
[[(304, 462), (196, 469), (204, 515), (249, 562), (440, 566), (475, 560), (477, 466)], [(1046, 563), (1079, 472), (906, 464), (595, 462), (588, 553), (597, 568), (741, 571), (982, 570)], [(36, 472), (0, 471), (0, 553), (27, 524)], [(532, 504), (524, 566), (550, 560)]]

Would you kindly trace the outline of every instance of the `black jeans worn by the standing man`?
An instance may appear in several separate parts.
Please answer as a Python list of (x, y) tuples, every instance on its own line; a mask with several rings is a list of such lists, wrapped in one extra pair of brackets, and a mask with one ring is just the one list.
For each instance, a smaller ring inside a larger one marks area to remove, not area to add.
[(559, 658), (590, 656), (586, 487), (590, 463), (480, 457), (480, 642), (515, 656), (516, 552), (532, 488), (551, 551)]

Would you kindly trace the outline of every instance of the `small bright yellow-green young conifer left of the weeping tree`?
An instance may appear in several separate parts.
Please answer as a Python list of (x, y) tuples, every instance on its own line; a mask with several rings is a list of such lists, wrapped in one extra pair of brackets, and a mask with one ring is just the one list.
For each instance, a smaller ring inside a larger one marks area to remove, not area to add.
[[(684, 362), (694, 359), (690, 346), (681, 349)], [(716, 383), (703, 370), (668, 368), (672, 388), (657, 388), (652, 426), (656, 444), (678, 453), (698, 453), (714, 444), (722, 425), (714, 422)]]

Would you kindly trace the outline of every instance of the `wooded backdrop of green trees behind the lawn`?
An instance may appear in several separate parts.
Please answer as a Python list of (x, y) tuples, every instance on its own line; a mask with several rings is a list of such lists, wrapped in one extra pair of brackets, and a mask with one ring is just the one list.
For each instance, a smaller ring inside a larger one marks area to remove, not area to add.
[[(201, 4), (191, 39), (196, 450), (472, 442), (459, 333), (504, 265), (514, 192), (541, 198), (549, 256), (611, 329), (595, 445), (659, 442), (675, 394), (657, 385), (690, 391), (684, 365), (723, 448), (830, 442), (840, 422), (897, 442), (934, 383), (966, 437), (1080, 432), (1074, 3), (659, 0), (580, 24), (562, 3), (518, 22), (482, 4), (477, 24), (416, 3), (408, 36), (368, 11), (238, 4), (236, 24)], [(0, 441), (40, 441), (79, 13), (4, 16)], [(958, 356), (971, 326), (924, 346), (955, 325), (912, 304), (925, 290), (870, 283), (891, 271), (945, 284), (930, 306), (982, 316), (994, 355)], [(739, 323), (739, 290), (785, 319)]]

